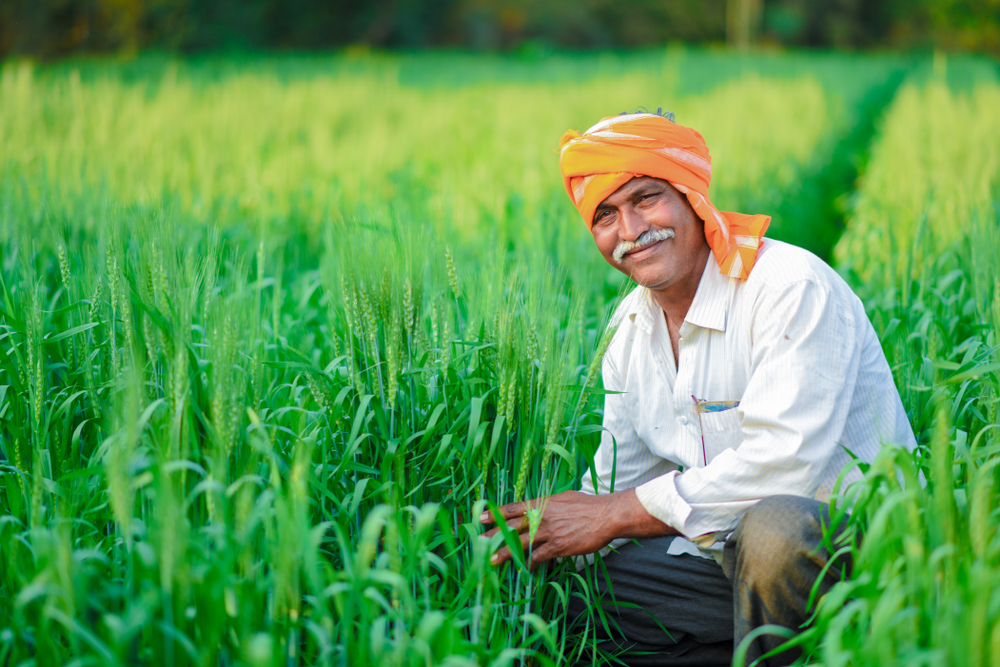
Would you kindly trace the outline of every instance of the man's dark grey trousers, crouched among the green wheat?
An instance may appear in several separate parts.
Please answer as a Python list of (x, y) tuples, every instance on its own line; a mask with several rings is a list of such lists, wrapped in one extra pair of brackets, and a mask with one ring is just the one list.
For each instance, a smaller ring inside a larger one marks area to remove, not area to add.
[[(600, 652), (625, 665), (722, 667), (732, 663), (734, 647), (756, 627), (800, 629), (809, 617), (813, 584), (829, 559), (822, 545), (827, 523), (823, 503), (774, 496), (744, 515), (726, 542), (721, 567), (697, 556), (668, 556), (672, 537), (631, 542), (606, 556), (603, 565), (587, 566), (581, 574), (609, 619), (610, 632), (589, 619)], [(846, 568), (849, 564), (834, 563), (820, 593), (839, 581)], [(577, 627), (587, 614), (587, 603), (575, 595), (570, 617)], [(784, 641), (775, 635), (758, 637), (746, 664)], [(787, 665), (798, 656), (791, 649), (760, 664)]]

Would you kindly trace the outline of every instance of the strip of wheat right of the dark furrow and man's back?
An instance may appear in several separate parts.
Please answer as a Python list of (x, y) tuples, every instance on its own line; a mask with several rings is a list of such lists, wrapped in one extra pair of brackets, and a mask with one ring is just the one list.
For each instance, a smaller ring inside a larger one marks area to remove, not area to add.
[(812, 631), (827, 665), (1000, 660), (1000, 85), (956, 88), (901, 89), (837, 248), (922, 446), (845, 493), (863, 541)]

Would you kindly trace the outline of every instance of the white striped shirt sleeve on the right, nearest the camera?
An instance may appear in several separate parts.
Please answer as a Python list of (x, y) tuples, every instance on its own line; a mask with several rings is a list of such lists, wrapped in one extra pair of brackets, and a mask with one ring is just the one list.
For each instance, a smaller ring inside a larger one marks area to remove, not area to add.
[(646, 510), (705, 546), (732, 531), (761, 498), (813, 497), (850, 410), (856, 338), (848, 305), (822, 285), (800, 281), (759, 297), (750, 378), (736, 408), (742, 443), (705, 467), (640, 486)]

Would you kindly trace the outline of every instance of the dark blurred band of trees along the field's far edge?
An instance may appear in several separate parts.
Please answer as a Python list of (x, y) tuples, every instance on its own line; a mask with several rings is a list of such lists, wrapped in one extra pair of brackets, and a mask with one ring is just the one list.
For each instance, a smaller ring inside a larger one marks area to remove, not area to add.
[(666, 42), (1000, 53), (1000, 0), (3, 0), (0, 57)]

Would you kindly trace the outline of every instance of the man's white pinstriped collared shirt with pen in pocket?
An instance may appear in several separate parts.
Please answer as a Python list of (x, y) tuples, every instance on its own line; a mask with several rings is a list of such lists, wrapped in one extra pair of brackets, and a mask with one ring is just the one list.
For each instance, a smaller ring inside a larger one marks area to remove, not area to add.
[[(882, 443), (915, 446), (861, 300), (806, 250), (765, 239), (746, 282), (710, 258), (680, 328), (679, 364), (644, 287), (616, 323), (604, 388), (622, 393), (605, 398), (597, 488), (612, 490), (614, 470), (615, 491), (636, 488), (651, 515), (699, 547), (766, 496), (828, 499), (847, 450), (871, 462)], [(699, 413), (693, 397), (740, 403)], [(583, 491), (595, 492), (590, 472)], [(717, 556), (683, 539), (668, 553)]]

